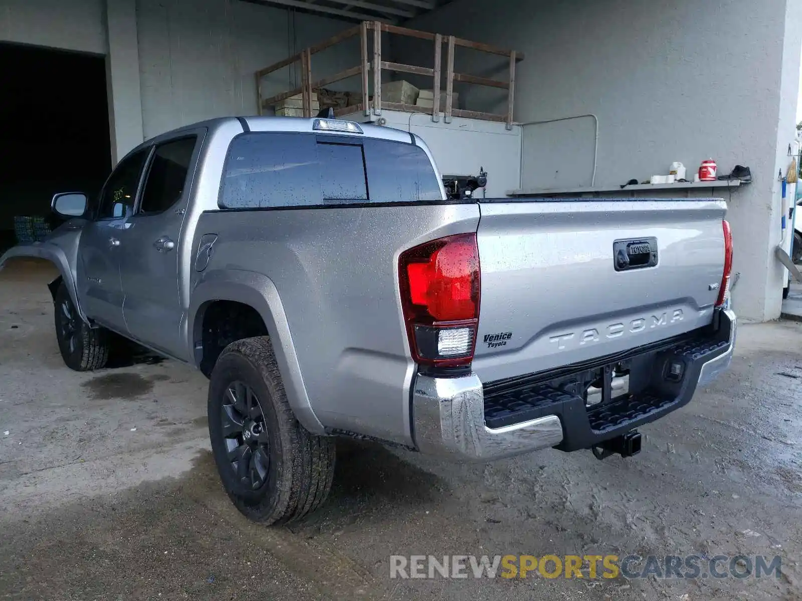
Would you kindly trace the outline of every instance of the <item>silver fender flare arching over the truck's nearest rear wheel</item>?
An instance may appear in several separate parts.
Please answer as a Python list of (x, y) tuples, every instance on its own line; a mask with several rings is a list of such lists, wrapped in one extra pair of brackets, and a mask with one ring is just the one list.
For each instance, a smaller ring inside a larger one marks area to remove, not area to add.
[(203, 330), (209, 309), (215, 303), (233, 302), (253, 309), (261, 317), (273, 346), (287, 401), (302, 426), (314, 434), (323, 434), (303, 382), (301, 366), (295, 352), (290, 324), (278, 290), (269, 277), (242, 269), (219, 269), (203, 273), (203, 279), (192, 290), (188, 310), (189, 357), (198, 369), (204, 359)]

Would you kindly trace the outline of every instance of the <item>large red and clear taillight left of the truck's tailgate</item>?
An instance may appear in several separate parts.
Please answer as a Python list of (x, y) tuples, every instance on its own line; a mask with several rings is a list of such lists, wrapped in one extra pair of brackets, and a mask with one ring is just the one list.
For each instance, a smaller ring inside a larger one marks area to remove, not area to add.
[(476, 234), (446, 236), (402, 252), (399, 280), (415, 361), (442, 366), (470, 364), (479, 322)]

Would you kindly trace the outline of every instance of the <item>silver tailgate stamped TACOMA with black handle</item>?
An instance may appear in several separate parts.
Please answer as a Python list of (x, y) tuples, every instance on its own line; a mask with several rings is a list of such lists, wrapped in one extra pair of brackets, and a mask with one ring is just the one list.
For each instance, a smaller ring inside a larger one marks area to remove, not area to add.
[(484, 382), (536, 373), (710, 324), (726, 210), (711, 199), (480, 204), (474, 371)]

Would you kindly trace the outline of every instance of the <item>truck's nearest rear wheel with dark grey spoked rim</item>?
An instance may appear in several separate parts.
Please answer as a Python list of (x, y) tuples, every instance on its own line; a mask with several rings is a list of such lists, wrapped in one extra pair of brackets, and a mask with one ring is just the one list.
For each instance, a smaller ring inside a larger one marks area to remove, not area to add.
[(264, 524), (302, 518), (326, 500), (334, 440), (295, 418), (267, 337), (227, 346), (209, 381), (209, 436), (226, 493)]

